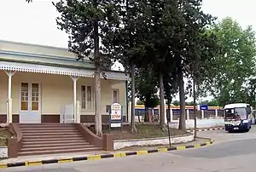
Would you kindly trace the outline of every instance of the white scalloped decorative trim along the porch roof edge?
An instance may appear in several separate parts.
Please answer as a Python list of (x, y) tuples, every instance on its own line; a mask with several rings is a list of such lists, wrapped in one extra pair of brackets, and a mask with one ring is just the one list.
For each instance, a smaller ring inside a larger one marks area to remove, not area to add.
[[(94, 77), (94, 71), (86, 69), (76, 69), (71, 67), (44, 66), (19, 62), (1, 61), (0, 70), (15, 72), (36, 72), (55, 75), (67, 75), (75, 77)], [(105, 72), (107, 79), (130, 80), (129, 76), (121, 72)], [(101, 76), (102, 77), (102, 76)], [(103, 77), (102, 77), (103, 78)]]

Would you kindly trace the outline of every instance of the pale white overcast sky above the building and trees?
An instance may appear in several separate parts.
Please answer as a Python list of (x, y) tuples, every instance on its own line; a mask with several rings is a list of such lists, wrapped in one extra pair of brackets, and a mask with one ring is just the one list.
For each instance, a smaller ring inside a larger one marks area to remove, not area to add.
[[(57, 1), (33, 0), (28, 4), (25, 0), (0, 0), (0, 39), (67, 48), (67, 34), (55, 23), (58, 13), (51, 2)], [(202, 9), (218, 20), (229, 16), (242, 27), (252, 25), (256, 31), (254, 4), (255, 0), (203, 0)]]

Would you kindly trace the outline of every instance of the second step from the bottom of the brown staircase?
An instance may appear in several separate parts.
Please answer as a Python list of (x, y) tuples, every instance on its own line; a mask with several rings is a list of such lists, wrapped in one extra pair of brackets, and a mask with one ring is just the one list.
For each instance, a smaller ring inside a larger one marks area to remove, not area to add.
[(82, 146), (43, 146), (43, 147), (22, 147), (20, 152), (35, 152), (35, 151), (44, 151), (44, 150), (67, 150), (70, 148), (76, 148), (76, 149), (86, 149), (86, 148), (91, 148), (91, 147), (95, 147), (94, 145), (82, 145)]

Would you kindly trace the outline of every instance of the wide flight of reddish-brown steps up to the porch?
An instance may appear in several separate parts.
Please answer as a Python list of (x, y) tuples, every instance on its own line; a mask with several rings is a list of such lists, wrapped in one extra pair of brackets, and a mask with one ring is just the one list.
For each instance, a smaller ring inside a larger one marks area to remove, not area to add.
[(23, 135), (18, 156), (100, 151), (79, 134), (73, 123), (19, 124)]

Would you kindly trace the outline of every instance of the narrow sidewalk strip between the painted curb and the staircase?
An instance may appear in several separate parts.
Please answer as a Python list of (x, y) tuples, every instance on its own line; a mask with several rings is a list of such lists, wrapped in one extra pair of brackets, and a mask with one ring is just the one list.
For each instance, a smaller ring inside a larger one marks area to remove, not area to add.
[[(193, 147), (197, 147), (198, 145), (201, 145), (201, 144), (203, 145), (206, 142), (209, 142), (209, 140), (207, 140), (207, 139), (196, 139), (195, 141), (192, 141), (192, 142), (189, 142), (189, 143), (172, 145), (172, 151), (179, 150), (178, 148), (174, 149), (176, 147), (183, 147), (183, 149), (193, 148)], [(185, 147), (185, 146), (187, 146), (187, 147)], [(207, 145), (205, 144), (203, 146), (207, 146)], [(113, 152), (99, 151), (99, 152), (78, 152), (78, 153), (36, 155), (36, 156), (22, 156), (22, 157), (18, 157), (18, 158), (9, 158), (9, 159), (1, 160), (0, 161), (0, 166), (1, 166), (1, 164), (7, 164), (7, 163), (25, 163), (24, 165), (26, 165), (27, 162), (42, 163), (42, 161), (49, 161), (49, 160), (55, 160), (56, 161), (55, 163), (60, 163), (61, 160), (63, 162), (70, 162), (70, 161), (72, 161), (71, 159), (73, 159), (73, 158), (86, 158), (86, 157), (87, 158), (84, 159), (84, 160), (89, 160), (89, 158), (91, 158), (91, 159), (101, 159), (102, 155), (111, 155), (111, 154), (113, 156), (109, 156), (109, 157), (107, 156), (107, 157), (108, 158), (124, 157), (124, 156), (126, 156), (125, 153), (129, 154), (129, 152), (144, 152), (145, 153), (145, 151), (157, 150), (158, 148), (166, 148), (166, 147), (169, 147), (169, 146), (131, 146), (131, 147), (125, 147), (121, 150), (113, 151)], [(119, 154), (119, 156), (117, 156), (117, 154)], [(142, 154), (142, 153), (137, 153), (137, 154)], [(132, 155), (136, 155), (136, 153), (133, 153)], [(68, 159), (70, 161), (68, 161)], [(19, 166), (24, 166), (24, 165), (19, 165)]]

